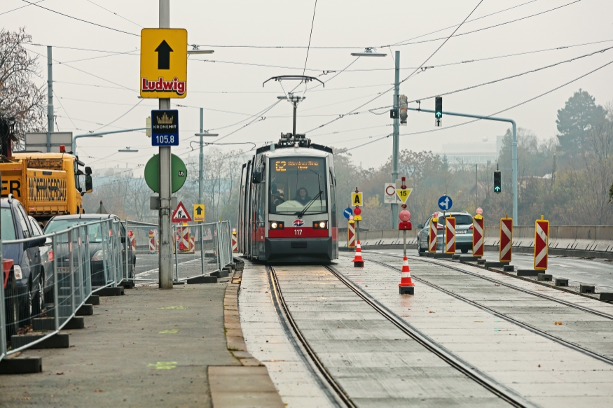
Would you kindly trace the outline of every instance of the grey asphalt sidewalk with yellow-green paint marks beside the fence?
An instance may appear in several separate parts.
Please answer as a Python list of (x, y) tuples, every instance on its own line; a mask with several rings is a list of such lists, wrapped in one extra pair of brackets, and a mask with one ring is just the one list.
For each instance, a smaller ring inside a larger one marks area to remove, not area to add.
[[(85, 329), (66, 331), (68, 349), (22, 354), (41, 356), (42, 373), (0, 377), (0, 406), (212, 407), (209, 384), (216, 400), (230, 381), (270, 381), (266, 367), (244, 367), (226, 348), (224, 295), (233, 286), (140, 286), (100, 297)], [(266, 391), (278, 398), (274, 387)]]

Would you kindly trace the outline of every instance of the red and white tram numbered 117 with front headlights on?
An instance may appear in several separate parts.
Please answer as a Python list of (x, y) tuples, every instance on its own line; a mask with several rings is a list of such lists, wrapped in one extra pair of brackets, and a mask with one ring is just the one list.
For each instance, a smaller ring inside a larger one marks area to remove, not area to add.
[(243, 164), (239, 251), (267, 263), (338, 258), (332, 149), (282, 134)]

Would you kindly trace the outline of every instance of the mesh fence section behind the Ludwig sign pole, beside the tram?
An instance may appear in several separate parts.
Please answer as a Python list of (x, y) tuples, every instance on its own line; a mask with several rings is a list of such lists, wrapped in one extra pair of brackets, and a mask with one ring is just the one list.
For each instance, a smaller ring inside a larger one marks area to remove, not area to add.
[[(125, 221), (125, 230), (133, 237), (136, 262), (134, 274), (126, 273), (128, 280), (159, 280), (159, 227), (157, 224)], [(229, 221), (173, 225), (174, 282), (196, 276), (209, 275), (233, 262)], [(129, 241), (124, 243), (128, 253)]]

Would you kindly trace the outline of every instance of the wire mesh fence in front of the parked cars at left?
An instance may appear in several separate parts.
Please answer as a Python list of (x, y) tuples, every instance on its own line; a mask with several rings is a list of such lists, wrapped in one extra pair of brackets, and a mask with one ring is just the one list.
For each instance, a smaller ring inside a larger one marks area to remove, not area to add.
[(92, 292), (125, 279), (122, 228), (101, 220), (1, 241), (0, 358), (56, 335)]

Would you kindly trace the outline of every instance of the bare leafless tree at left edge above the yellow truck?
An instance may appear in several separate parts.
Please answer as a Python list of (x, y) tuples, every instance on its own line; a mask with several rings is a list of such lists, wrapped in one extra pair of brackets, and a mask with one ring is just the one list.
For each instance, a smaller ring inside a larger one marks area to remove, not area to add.
[(0, 29), (0, 116), (15, 118), (15, 136), (44, 127), (44, 87), (34, 83), (41, 77), (36, 57), (30, 57), (24, 44), (32, 43), (25, 27), (19, 31)]

